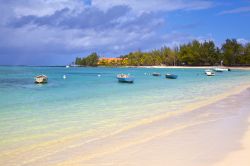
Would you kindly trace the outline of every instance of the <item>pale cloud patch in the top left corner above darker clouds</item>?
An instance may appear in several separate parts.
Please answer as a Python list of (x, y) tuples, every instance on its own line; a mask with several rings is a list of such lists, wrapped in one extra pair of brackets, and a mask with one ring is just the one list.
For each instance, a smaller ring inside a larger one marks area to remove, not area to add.
[(65, 8), (77, 13), (85, 7), (82, 0), (0, 0), (0, 26), (23, 16), (43, 17)]

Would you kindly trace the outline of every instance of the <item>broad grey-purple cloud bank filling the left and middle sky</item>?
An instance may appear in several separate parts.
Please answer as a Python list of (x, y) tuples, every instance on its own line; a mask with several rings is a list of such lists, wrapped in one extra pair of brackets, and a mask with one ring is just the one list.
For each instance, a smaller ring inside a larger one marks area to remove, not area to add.
[(0, 4), (0, 55), (31, 59), (37, 54), (93, 51), (118, 56), (184, 43), (195, 37), (159, 32), (166, 20), (157, 13), (212, 6), (205, 0), (93, 0), (87, 6), (83, 0), (0, 0)]

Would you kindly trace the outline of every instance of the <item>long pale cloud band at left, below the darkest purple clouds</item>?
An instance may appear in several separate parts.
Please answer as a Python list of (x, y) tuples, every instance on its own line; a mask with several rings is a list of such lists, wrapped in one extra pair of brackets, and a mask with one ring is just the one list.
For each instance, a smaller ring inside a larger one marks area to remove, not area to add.
[(153, 32), (148, 31), (147, 27), (128, 31), (113, 28), (81, 30), (27, 25), (15, 29), (0, 29), (0, 31), (4, 34), (0, 39), (2, 50), (6, 46), (5, 49), (10, 50), (15, 48), (23, 52), (48, 51), (56, 54), (91, 50), (115, 53), (117, 48), (120, 48), (119, 51), (133, 50), (143, 47), (145, 43), (157, 37)]

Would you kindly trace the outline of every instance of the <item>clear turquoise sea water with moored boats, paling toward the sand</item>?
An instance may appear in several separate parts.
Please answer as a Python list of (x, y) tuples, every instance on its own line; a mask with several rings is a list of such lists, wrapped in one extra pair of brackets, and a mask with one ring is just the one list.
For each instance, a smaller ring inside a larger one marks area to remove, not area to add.
[[(152, 72), (179, 77), (169, 80)], [(134, 84), (118, 83), (119, 73), (133, 75)], [(49, 77), (48, 84), (34, 84), (39, 74)], [(79, 133), (90, 139), (250, 83), (249, 71), (216, 74), (207, 77), (204, 69), (0, 67), (0, 146), (6, 150)]]

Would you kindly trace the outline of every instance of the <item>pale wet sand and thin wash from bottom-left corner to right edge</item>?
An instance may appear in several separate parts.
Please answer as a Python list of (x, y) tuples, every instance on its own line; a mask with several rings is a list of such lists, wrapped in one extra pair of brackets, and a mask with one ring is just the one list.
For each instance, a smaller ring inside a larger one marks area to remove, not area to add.
[[(75, 142), (58, 153), (48, 144), (25, 152), (32, 157), (15, 152), (24, 155), (21, 161), (8, 154), (0, 158), (0, 163), (2, 160), (5, 165), (25, 166), (211, 166), (241, 148), (249, 117), (245, 110), (250, 106), (249, 97), (249, 85), (242, 85), (209, 101), (191, 104), (183, 111), (141, 120), (94, 141)], [(58, 148), (64, 147), (67, 140), (58, 143)], [(245, 151), (241, 153), (246, 155)]]

